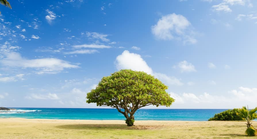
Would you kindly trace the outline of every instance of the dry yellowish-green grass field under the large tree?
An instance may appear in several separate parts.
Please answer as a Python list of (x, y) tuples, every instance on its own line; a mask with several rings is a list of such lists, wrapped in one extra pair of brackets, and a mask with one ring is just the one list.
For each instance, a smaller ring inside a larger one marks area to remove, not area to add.
[(245, 130), (245, 122), (225, 121), (0, 119), (0, 138), (256, 138)]

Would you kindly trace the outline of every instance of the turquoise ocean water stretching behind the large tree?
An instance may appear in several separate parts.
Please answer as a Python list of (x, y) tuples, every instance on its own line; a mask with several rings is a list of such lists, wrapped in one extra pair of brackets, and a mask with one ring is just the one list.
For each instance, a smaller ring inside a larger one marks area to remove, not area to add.
[[(15, 111), (0, 112), (0, 118), (40, 118), (40, 119), (85, 119), (124, 120), (116, 109), (78, 108), (15, 108)], [(182, 120), (207, 121), (215, 113), (227, 109), (139, 109), (136, 120)], [(24, 113), (25, 112), (25, 113)]]

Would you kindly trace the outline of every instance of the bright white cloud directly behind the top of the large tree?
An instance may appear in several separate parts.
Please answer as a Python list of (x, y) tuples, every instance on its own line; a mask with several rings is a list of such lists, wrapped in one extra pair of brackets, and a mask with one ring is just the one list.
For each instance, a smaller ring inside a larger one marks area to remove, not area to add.
[(116, 57), (115, 65), (118, 70), (131, 69), (134, 71), (144, 71), (168, 84), (183, 85), (183, 83), (175, 77), (169, 77), (165, 74), (154, 72), (139, 54), (130, 53), (128, 50), (125, 50), (121, 55)]

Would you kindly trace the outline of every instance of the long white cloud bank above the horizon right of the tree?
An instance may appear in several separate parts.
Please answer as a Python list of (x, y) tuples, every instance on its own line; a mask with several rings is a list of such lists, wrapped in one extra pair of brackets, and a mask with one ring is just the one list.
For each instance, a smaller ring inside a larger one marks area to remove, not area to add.
[[(214, 93), (216, 94), (216, 93)], [(240, 108), (245, 105), (256, 107), (257, 88), (239, 87), (222, 93), (222, 95), (212, 95), (210, 93), (182, 93), (170, 92), (170, 96), (175, 99), (172, 107), (175, 108)], [(215, 105), (215, 106), (214, 106)]]

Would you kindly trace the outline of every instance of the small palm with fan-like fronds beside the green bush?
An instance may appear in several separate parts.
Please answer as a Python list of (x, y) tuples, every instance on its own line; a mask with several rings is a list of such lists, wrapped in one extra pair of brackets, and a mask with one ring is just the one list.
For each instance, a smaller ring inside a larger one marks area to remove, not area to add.
[(247, 121), (247, 130), (246, 130), (246, 135), (247, 136), (257, 136), (257, 129), (255, 129), (251, 123), (252, 120), (257, 118), (257, 107), (254, 109), (246, 109), (246, 106), (243, 106), (241, 109), (239, 109), (239, 112), (237, 115), (241, 117), (243, 120)]

